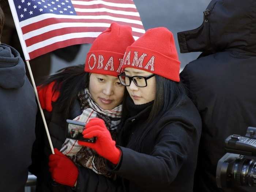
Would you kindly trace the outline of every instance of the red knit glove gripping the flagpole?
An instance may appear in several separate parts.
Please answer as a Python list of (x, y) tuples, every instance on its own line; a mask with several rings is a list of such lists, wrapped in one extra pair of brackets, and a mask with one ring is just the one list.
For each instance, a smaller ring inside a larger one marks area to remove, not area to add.
[(49, 171), (52, 178), (60, 184), (74, 187), (78, 178), (78, 168), (57, 148), (54, 148), (54, 153), (49, 156)]

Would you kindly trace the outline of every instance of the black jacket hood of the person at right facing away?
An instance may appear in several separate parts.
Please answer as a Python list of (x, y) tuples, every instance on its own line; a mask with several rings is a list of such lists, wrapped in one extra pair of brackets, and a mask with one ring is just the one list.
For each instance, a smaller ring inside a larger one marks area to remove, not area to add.
[(212, 0), (203, 24), (178, 33), (181, 53), (237, 50), (256, 53), (256, 1)]

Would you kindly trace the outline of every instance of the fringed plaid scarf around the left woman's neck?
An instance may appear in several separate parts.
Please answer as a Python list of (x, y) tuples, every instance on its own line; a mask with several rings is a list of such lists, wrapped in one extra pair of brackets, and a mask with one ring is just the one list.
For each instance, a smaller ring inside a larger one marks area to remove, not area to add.
[[(83, 113), (74, 118), (75, 121), (87, 123), (91, 118), (98, 117), (105, 121), (106, 127), (109, 129), (113, 140), (117, 138), (117, 127), (121, 121), (122, 105), (118, 105), (112, 110), (104, 110), (94, 102), (88, 89), (80, 92), (78, 98), (81, 103)], [(70, 127), (72, 126), (72, 127)], [(69, 125), (68, 129), (74, 129), (76, 125)], [(77, 128), (78, 132), (82, 132), (83, 128)], [(66, 139), (61, 147), (61, 153), (69, 156), (76, 165), (82, 165), (92, 169), (97, 174), (107, 177), (113, 177), (113, 174), (106, 170), (105, 159), (99, 156), (93, 149), (83, 147), (78, 144), (77, 140)]]

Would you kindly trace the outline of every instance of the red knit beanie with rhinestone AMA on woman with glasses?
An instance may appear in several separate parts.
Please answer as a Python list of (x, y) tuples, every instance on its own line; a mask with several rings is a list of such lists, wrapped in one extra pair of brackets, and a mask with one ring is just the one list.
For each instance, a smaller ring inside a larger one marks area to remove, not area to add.
[(180, 61), (171, 31), (165, 27), (149, 29), (124, 54), (122, 68), (149, 71), (167, 79), (180, 81)]

